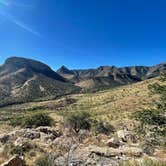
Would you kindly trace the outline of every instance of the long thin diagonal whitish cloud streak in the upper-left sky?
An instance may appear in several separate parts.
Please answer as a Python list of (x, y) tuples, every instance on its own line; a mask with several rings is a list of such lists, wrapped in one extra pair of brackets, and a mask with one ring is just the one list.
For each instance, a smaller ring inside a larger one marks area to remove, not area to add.
[(17, 20), (14, 16), (5, 13), (5, 12), (0, 12), (0, 15), (5, 17), (8, 21), (14, 23), (15, 25), (17, 25), (18, 27), (22, 28), (23, 30), (32, 33), (33, 35), (42, 38), (42, 35), (40, 33), (38, 33), (37, 31), (33, 30), (32, 28), (28, 27), (27, 25), (25, 25), (24, 23), (22, 23), (21, 21)]

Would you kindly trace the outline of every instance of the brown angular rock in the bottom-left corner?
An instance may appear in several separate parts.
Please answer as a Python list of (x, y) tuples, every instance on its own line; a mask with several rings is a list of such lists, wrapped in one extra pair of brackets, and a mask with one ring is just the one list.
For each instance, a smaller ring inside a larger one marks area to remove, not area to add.
[(13, 156), (9, 161), (1, 164), (1, 166), (26, 166), (26, 164), (23, 158)]

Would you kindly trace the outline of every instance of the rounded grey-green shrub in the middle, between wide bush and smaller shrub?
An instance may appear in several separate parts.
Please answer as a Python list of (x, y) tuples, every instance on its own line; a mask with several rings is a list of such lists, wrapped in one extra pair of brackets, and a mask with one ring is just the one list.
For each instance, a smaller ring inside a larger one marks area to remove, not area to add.
[(88, 112), (74, 112), (65, 118), (65, 123), (76, 133), (81, 129), (89, 130), (91, 128), (91, 116)]

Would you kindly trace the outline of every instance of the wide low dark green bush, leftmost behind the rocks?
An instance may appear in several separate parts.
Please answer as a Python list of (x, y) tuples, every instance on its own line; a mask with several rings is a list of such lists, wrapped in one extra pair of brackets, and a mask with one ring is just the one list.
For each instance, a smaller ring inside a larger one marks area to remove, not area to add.
[(13, 126), (36, 128), (39, 126), (51, 126), (53, 124), (53, 119), (45, 113), (36, 113), (27, 117), (14, 119), (10, 124)]

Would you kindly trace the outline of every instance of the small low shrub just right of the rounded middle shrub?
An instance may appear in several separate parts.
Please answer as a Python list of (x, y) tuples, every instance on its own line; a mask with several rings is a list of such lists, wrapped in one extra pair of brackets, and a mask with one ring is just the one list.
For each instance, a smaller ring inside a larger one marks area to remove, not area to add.
[(97, 134), (109, 135), (115, 131), (115, 128), (108, 122), (96, 121), (93, 125), (94, 130)]

